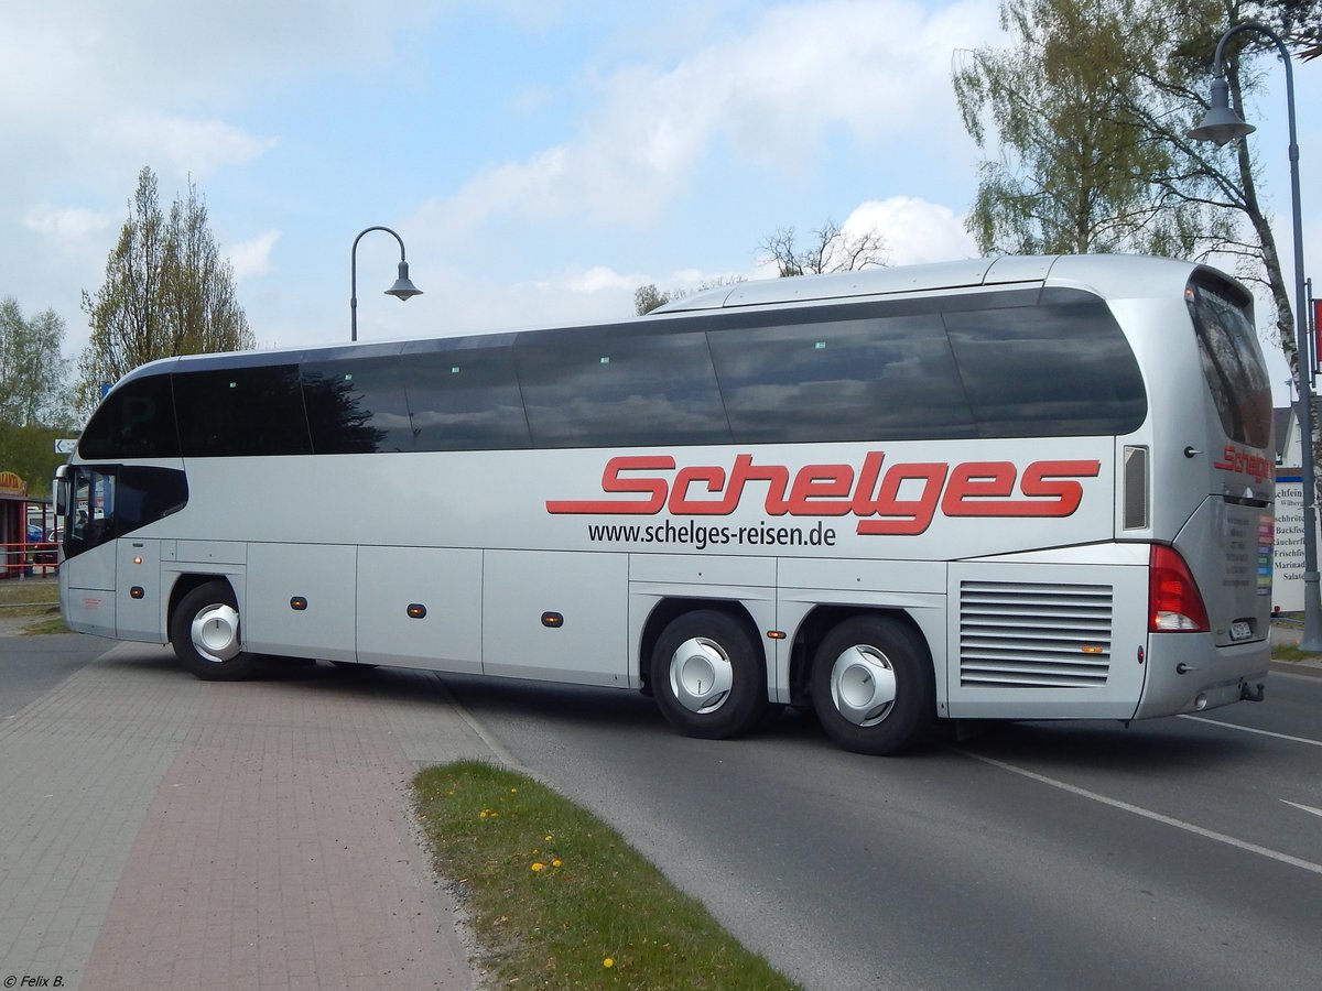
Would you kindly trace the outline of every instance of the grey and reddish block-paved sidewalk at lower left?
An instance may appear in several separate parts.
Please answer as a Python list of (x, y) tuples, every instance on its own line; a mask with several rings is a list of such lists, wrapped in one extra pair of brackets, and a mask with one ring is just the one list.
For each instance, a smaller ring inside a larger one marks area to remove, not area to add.
[(408, 781), (490, 756), (426, 673), (119, 645), (0, 723), (0, 983), (472, 988)]

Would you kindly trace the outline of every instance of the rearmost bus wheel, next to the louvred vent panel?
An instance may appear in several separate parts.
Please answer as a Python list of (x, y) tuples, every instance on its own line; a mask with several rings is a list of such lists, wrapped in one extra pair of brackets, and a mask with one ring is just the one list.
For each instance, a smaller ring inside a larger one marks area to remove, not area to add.
[(855, 616), (813, 657), (812, 696), (828, 736), (854, 753), (899, 753), (936, 720), (932, 659), (912, 626)]

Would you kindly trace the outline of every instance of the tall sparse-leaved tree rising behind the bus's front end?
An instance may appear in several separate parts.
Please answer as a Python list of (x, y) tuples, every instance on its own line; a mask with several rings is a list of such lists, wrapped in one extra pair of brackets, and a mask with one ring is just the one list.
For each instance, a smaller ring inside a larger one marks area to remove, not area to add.
[(145, 362), (255, 345), (197, 188), (189, 182), (188, 196), (165, 215), (149, 168), (139, 173), (106, 281), (95, 295), (83, 291), (83, 311), (91, 340), (78, 361), (75, 403), (85, 412), (99, 399), (100, 383)]

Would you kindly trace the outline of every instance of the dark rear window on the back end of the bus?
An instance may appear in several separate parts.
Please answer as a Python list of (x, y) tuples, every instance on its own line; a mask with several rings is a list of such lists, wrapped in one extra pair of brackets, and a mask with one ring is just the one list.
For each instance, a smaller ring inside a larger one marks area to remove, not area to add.
[(1249, 300), (1231, 287), (1195, 276), (1186, 293), (1198, 334), (1203, 377), (1229, 440), (1272, 443), (1272, 385), (1257, 346)]

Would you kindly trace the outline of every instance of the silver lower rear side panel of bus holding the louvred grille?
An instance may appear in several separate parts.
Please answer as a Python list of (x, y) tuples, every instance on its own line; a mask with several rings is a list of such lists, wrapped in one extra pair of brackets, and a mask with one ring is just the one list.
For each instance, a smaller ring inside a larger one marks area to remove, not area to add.
[(1146, 559), (960, 562), (949, 581), (951, 716), (1133, 717), (1146, 675)]

